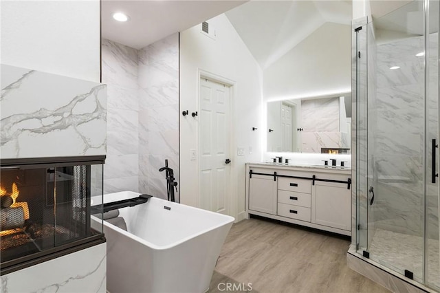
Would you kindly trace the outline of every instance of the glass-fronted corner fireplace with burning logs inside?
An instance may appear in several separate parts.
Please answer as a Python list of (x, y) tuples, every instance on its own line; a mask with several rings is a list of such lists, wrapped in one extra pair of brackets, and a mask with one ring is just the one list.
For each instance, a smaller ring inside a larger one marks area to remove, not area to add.
[[(92, 173), (101, 174), (93, 184)], [(0, 184), (2, 270), (103, 239), (102, 225), (90, 223), (91, 185), (102, 196), (102, 164), (2, 166)]]

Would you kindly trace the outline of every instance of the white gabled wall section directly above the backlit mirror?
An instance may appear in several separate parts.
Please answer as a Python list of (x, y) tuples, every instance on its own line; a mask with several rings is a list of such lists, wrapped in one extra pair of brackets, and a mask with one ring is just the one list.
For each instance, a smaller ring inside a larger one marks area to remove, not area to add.
[(350, 25), (325, 23), (265, 69), (265, 100), (349, 91), (350, 56)]

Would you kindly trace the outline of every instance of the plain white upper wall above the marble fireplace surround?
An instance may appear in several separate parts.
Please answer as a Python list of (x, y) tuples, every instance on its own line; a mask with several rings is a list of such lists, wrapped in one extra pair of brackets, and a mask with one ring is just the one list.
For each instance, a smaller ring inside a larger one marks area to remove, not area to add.
[(100, 1), (1, 1), (0, 62), (100, 81)]

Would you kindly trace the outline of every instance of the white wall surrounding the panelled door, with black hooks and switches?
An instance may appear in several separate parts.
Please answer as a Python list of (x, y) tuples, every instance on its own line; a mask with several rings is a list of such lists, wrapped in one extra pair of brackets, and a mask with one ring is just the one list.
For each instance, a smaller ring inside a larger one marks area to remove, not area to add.
[[(245, 206), (245, 162), (261, 157), (261, 68), (250, 54), (224, 14), (208, 21), (216, 39), (200, 32), (200, 25), (180, 34), (180, 111), (198, 111), (199, 70), (234, 81), (232, 96), (232, 197), (236, 197), (236, 215), (243, 219)], [(197, 120), (180, 114), (180, 199), (199, 206), (198, 162), (190, 160), (190, 149), (197, 149)], [(259, 128), (252, 131), (252, 127)], [(245, 155), (237, 156), (243, 147)], [(252, 147), (252, 154), (249, 148)]]

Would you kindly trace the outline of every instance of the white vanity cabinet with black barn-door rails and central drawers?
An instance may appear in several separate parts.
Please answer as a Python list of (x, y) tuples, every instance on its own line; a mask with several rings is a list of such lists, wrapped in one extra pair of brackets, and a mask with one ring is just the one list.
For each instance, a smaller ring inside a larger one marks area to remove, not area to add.
[(246, 164), (246, 211), (351, 235), (351, 170)]

